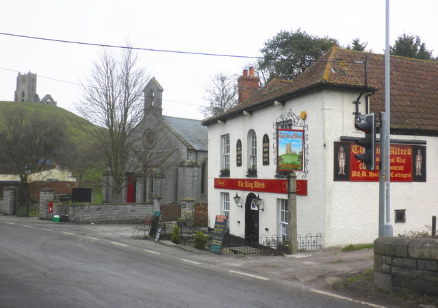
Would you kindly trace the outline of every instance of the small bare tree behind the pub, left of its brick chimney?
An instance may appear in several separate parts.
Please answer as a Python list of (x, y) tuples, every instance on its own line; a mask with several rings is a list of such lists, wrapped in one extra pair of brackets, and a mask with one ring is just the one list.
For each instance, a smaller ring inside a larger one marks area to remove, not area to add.
[(209, 106), (202, 107), (204, 116), (216, 116), (229, 110), (237, 103), (237, 76), (219, 73), (211, 78), (211, 83), (205, 88)]

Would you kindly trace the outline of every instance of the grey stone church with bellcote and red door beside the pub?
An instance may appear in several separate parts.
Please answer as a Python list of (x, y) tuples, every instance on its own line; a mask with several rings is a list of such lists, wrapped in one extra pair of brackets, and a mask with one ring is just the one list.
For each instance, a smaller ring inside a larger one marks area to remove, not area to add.
[(164, 116), (164, 88), (153, 77), (144, 88), (144, 116), (136, 127), (143, 170), (130, 175), (122, 195), (127, 203), (207, 202), (207, 127), (200, 120)]

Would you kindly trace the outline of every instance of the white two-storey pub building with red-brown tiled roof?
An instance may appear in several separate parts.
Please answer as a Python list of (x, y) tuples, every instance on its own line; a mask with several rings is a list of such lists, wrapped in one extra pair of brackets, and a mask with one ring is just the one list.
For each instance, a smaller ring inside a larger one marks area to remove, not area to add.
[[(239, 104), (203, 121), (209, 227), (226, 215), (234, 235), (288, 240), (283, 164), (297, 167), (298, 241), (327, 247), (378, 238), (379, 143), (370, 171), (355, 158), (362, 148), (353, 140), (363, 137), (358, 114), (374, 112), (380, 122), (385, 111), (385, 57), (333, 47), (320, 60), (294, 81), (261, 89), (253, 68), (244, 70)], [(277, 143), (277, 129), (295, 137)], [(438, 215), (437, 136), (438, 62), (391, 56), (394, 236), (425, 230)]]

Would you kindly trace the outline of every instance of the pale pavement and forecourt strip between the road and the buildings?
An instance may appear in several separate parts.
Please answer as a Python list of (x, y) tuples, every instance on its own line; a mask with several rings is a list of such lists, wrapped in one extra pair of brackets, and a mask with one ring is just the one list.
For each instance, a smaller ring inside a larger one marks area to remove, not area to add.
[[(68, 222), (51, 222), (39, 218), (23, 218), (16, 216), (1, 216), (0, 221), (21, 222), (29, 224), (62, 224), (68, 228), (79, 228), (82, 232), (92, 233), (92, 236), (123, 240), (132, 244), (141, 245), (134, 240), (133, 224), (71, 224)], [(88, 230), (88, 231), (87, 231)], [(141, 239), (141, 240), (140, 240)], [(166, 240), (160, 244), (175, 246), (175, 249), (185, 249), (194, 253), (194, 258), (207, 258), (211, 264), (224, 263), (233, 270), (249, 272), (261, 277), (269, 277), (272, 281), (302, 285), (311, 290), (327, 292), (332, 296), (346, 296), (354, 300), (361, 300), (374, 307), (438, 307), (438, 298), (422, 301), (418, 297), (400, 298), (378, 290), (372, 283), (372, 276), (362, 277), (359, 273), (368, 272), (373, 268), (374, 251), (365, 248), (359, 251), (342, 252), (341, 247), (326, 248), (319, 251), (298, 252), (294, 255), (266, 256), (266, 255), (216, 255), (207, 251), (198, 251)], [(348, 282), (351, 277), (358, 277)], [(368, 275), (370, 276), (370, 275)], [(361, 280), (362, 279), (362, 280)], [(365, 281), (365, 279), (368, 279)], [(350, 284), (350, 285), (349, 285)], [(351, 287), (352, 285), (352, 287)], [(435, 301), (436, 300), (436, 301)], [(424, 304), (423, 304), (424, 303)]]

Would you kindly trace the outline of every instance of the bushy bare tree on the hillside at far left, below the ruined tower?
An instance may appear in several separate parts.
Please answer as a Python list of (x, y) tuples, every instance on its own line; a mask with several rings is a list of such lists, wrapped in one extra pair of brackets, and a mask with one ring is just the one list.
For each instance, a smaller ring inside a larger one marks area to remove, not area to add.
[(1, 124), (1, 160), (13, 166), (23, 182), (27, 181), (25, 166), (40, 171), (49, 162), (61, 160), (68, 146), (61, 120), (29, 112), (20, 105), (5, 110)]

